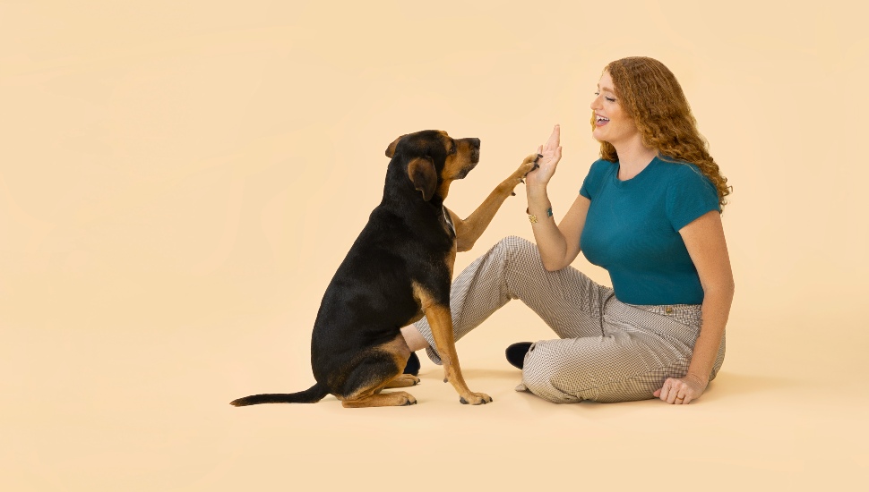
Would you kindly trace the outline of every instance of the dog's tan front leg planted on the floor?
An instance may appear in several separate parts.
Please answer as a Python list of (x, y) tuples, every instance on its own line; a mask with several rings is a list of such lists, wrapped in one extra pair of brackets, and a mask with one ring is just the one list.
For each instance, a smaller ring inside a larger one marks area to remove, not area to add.
[(456, 355), (455, 335), (452, 333), (450, 307), (435, 301), (426, 287), (416, 282), (413, 283), (413, 292), (426, 313), (426, 319), (428, 319), (428, 324), (432, 328), (432, 335), (435, 337), (437, 352), (441, 355), (444, 375), (452, 383), (452, 387), (455, 388), (464, 402), (472, 405), (491, 402), (492, 397), (488, 394), (470, 391), (464, 377), (461, 376), (459, 358)]

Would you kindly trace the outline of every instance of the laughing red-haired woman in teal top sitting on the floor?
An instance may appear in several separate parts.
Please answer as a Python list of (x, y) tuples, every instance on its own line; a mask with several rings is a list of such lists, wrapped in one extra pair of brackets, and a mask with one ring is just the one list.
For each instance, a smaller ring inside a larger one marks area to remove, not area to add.
[[(734, 282), (718, 173), (675, 76), (657, 60), (607, 65), (591, 102), (601, 159), (555, 225), (546, 185), (561, 159), (560, 128), (538, 148), (528, 174), (537, 246), (505, 238), (452, 287), (458, 340), (511, 299), (521, 299), (559, 336), (513, 344), (520, 391), (557, 403), (658, 397), (691, 403), (724, 361)], [(613, 288), (570, 267), (583, 251), (607, 268)], [(425, 320), (403, 328), (411, 350), (432, 349)]]

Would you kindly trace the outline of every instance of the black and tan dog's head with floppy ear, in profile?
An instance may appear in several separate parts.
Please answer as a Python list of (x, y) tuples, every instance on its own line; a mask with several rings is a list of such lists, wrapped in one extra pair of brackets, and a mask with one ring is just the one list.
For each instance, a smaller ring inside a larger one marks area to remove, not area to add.
[(450, 183), (467, 176), (479, 162), (480, 140), (453, 139), (440, 130), (417, 131), (389, 144), (386, 157), (399, 160), (423, 199), (445, 199)]

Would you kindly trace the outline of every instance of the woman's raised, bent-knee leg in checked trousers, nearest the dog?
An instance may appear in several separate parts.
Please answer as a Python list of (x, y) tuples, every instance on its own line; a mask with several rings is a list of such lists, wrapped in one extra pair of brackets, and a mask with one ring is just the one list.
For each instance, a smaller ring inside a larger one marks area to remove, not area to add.
[[(453, 282), (453, 332), (458, 341), (508, 301), (520, 299), (559, 337), (600, 336), (603, 307), (612, 295), (612, 289), (595, 284), (575, 268), (547, 272), (534, 243), (508, 236)], [(419, 348), (417, 333), (422, 336), (428, 356), (440, 364), (426, 318), (402, 332), (411, 350)]]

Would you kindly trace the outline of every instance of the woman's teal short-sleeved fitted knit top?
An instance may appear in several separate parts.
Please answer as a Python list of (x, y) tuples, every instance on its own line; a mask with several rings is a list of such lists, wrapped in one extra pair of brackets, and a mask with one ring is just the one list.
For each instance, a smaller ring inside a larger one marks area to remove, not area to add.
[(719, 210), (718, 191), (692, 164), (652, 159), (620, 181), (619, 165), (600, 159), (580, 194), (591, 200), (580, 246), (604, 267), (615, 298), (628, 304), (700, 304), (700, 276), (679, 229)]

